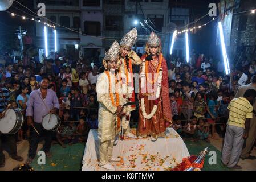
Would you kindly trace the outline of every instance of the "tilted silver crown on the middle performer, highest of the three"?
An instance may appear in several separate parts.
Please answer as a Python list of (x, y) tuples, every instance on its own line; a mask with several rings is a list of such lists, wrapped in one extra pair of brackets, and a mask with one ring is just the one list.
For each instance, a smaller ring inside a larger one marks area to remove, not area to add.
[(120, 42), (121, 47), (132, 49), (132, 46), (137, 40), (137, 28), (133, 28), (126, 35), (123, 36)]

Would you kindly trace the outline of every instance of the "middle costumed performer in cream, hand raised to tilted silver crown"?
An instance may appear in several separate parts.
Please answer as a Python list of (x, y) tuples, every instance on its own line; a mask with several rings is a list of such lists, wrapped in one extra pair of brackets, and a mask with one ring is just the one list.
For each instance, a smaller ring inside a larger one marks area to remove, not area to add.
[[(136, 52), (132, 50), (132, 46), (137, 39), (137, 29), (133, 28), (126, 35), (123, 36), (120, 42), (120, 55), (119, 55), (119, 77), (121, 85), (120, 104), (123, 105), (126, 102), (135, 101), (135, 93), (133, 86), (133, 71), (132, 65), (141, 64), (141, 59), (137, 56)], [(123, 133), (130, 138), (137, 138), (130, 132), (129, 121), (131, 118), (131, 111), (135, 110), (135, 105), (126, 106), (123, 108), (123, 114), (121, 115), (121, 125), (123, 127)], [(117, 140), (116, 140), (117, 141)], [(117, 142), (115, 141), (115, 144)]]

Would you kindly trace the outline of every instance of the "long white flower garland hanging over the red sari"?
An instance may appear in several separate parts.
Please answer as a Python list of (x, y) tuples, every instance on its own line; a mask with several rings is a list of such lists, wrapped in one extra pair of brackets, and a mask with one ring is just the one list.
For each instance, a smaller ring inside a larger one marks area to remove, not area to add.
[[(145, 64), (146, 64), (146, 61), (143, 60), (142, 71), (141, 71), (141, 89), (144, 88), (145, 82), (146, 82)], [(160, 68), (160, 70), (159, 70), (159, 77), (157, 78), (157, 83), (158, 83), (158, 85), (157, 85), (157, 90), (156, 90), (156, 99), (158, 99), (160, 97), (161, 84), (162, 84), (162, 68)], [(156, 113), (157, 105), (153, 106), (153, 109), (150, 114), (147, 114), (146, 110), (145, 110), (144, 98), (141, 98), (140, 103), (141, 103), (141, 110), (142, 110), (143, 117), (145, 119), (151, 119), (153, 117), (153, 115), (155, 115), (155, 113)]]

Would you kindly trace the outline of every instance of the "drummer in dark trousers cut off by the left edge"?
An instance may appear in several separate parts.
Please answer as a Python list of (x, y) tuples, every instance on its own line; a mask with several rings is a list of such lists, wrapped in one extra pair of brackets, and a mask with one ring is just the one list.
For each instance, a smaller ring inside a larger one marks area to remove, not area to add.
[[(0, 118), (5, 117), (3, 111), (7, 108), (10, 101), (10, 93), (7, 89), (0, 88)], [(17, 155), (17, 145), (15, 135), (13, 134), (0, 134), (0, 168), (5, 167), (5, 155), (3, 154), (2, 138), (6, 139), (6, 143), (10, 148), (10, 156), (14, 160), (23, 161), (21, 156)]]

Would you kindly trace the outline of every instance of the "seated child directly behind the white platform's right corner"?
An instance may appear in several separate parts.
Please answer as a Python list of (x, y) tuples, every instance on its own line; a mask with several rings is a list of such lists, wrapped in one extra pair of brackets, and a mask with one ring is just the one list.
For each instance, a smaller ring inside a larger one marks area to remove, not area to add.
[(197, 124), (197, 117), (192, 115), (192, 117), (190, 118), (190, 122), (187, 123), (182, 130), (184, 137), (191, 137), (191, 138), (197, 137), (197, 125), (196, 124)]

